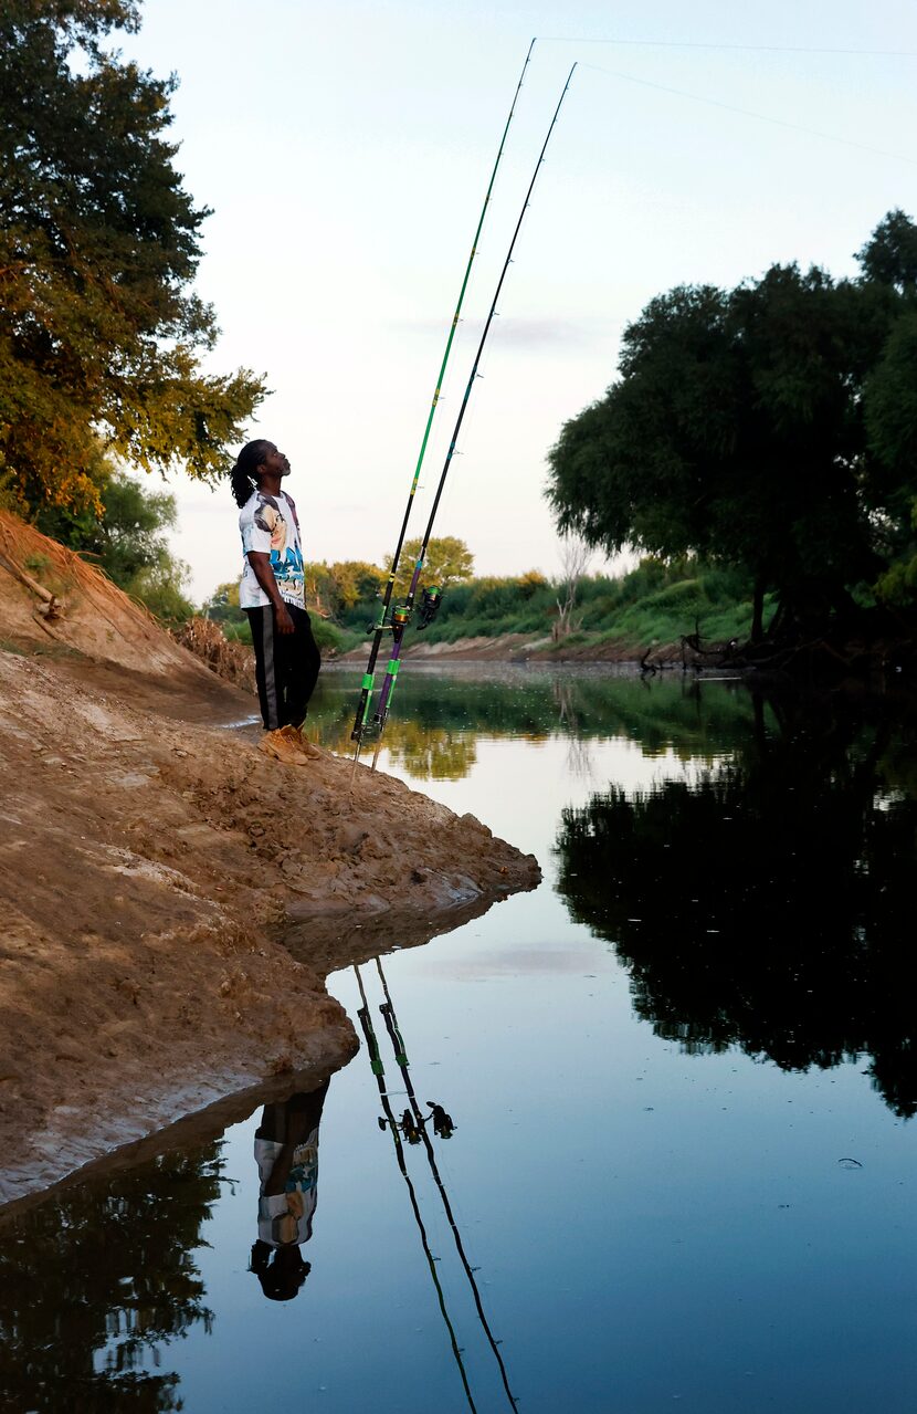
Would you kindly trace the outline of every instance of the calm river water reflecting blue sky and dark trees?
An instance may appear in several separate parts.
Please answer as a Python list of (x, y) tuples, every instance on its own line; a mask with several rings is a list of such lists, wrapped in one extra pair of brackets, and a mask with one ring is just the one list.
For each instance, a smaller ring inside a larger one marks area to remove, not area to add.
[[(913, 1410), (913, 745), (887, 700), (408, 665), (381, 765), (544, 882), (332, 976), (326, 1094), (0, 1222), (1, 1407)], [(292, 1217), (256, 1130), (305, 1141)]]

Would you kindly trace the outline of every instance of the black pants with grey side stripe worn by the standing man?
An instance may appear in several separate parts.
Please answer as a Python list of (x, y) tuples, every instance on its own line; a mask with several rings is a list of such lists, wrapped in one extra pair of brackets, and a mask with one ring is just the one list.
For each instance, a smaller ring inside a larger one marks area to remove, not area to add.
[(300, 725), (322, 666), (308, 614), (294, 604), (287, 604), (287, 611), (292, 619), (292, 633), (277, 632), (273, 604), (246, 609), (252, 625), (254, 680), (259, 684), (266, 731), (276, 731), (290, 724)]

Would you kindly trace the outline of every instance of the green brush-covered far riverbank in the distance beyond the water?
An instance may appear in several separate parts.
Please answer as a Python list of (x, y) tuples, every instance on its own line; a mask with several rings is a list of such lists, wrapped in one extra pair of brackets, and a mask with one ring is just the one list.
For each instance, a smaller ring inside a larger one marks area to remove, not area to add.
[[(336, 566), (321, 568), (333, 580)], [(366, 568), (372, 567), (360, 566), (360, 571)], [(379, 578), (365, 575), (359, 597), (349, 604), (338, 601), (335, 614), (326, 607), (328, 578), (318, 604), (307, 597), (315, 639), (326, 662), (345, 655), (362, 656), (379, 615), (374, 587), (383, 580), (383, 571), (377, 573)], [(565, 605), (569, 607), (567, 614)], [(763, 611), (764, 638), (752, 642), (753, 585), (742, 570), (695, 557), (667, 561), (650, 556), (615, 578), (581, 577), (574, 595), (568, 594), (567, 583), (548, 580), (538, 571), (446, 585), (432, 624), (421, 631), (414, 618), (404, 653), (407, 658), (425, 656), (432, 648), (435, 656), (444, 659), (455, 655), (640, 662), (646, 669), (673, 663), (788, 676), (803, 670), (817, 676), (846, 672), (869, 676), (876, 669), (907, 676), (914, 666), (909, 642), (917, 639), (917, 625), (910, 624), (904, 611), (876, 604), (865, 587), (853, 597), (851, 615), (838, 621), (832, 636), (822, 633), (803, 649), (794, 648), (788, 658), (780, 642), (767, 636), (777, 614), (773, 595), (764, 597)], [(201, 642), (211, 666), (219, 672), (213, 629), (222, 631), (242, 652), (246, 652), (243, 645), (252, 642), (247, 618), (239, 608), (237, 587), (220, 585), (203, 607), (203, 615), (211, 625), (199, 635)], [(187, 646), (194, 648), (192, 639), (192, 633), (185, 635)]]

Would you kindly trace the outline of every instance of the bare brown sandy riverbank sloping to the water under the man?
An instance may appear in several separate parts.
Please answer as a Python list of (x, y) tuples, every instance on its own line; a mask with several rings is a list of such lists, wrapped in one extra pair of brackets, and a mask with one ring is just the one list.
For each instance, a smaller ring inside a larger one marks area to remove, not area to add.
[(13, 559), (34, 536), (0, 542), (0, 1202), (342, 1063), (326, 971), (538, 880), (393, 778), (267, 758), (232, 725), (253, 700), (85, 566), (48, 635)]

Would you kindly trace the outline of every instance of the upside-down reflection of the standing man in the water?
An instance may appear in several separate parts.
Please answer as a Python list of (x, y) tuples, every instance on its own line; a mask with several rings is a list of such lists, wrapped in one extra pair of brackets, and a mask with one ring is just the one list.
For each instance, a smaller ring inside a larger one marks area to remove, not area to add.
[(270, 1301), (291, 1301), (309, 1274), (301, 1243), (312, 1236), (318, 1203), (318, 1124), (328, 1080), (311, 1094), (266, 1104), (254, 1133), (254, 1161), (261, 1178), (259, 1240), (252, 1271)]

